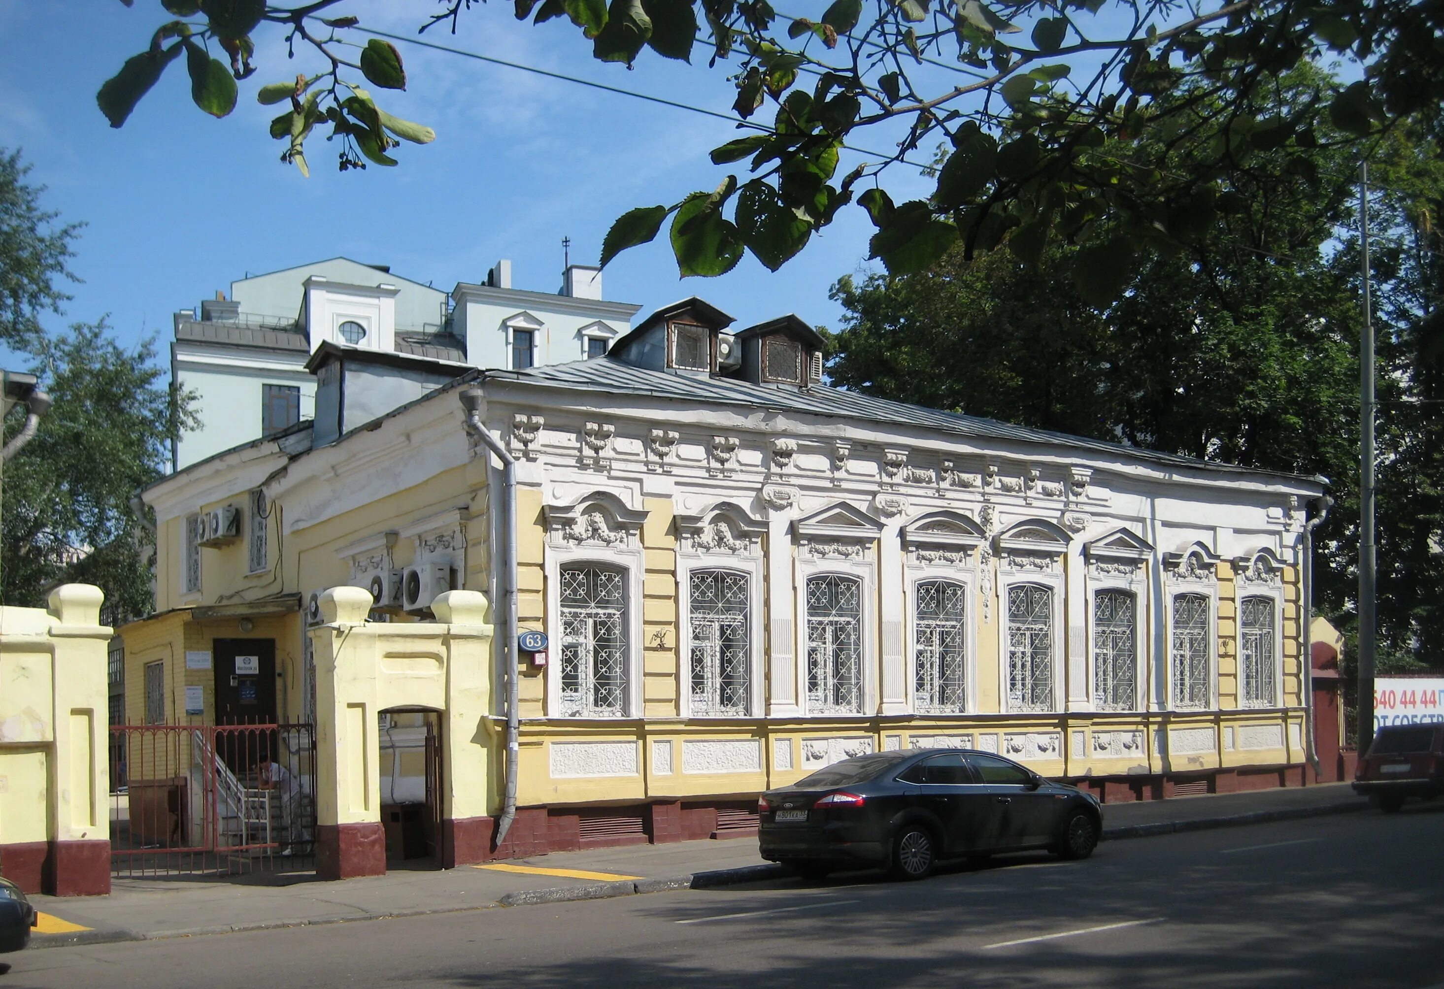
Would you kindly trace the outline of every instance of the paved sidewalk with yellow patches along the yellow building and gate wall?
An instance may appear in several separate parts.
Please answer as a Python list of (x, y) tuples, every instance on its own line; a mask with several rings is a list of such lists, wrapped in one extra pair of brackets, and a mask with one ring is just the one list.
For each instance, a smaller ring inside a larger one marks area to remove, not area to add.
[[(1108, 804), (1103, 807), (1103, 836), (1110, 840), (1147, 837), (1365, 807), (1347, 784)], [(739, 872), (729, 872), (732, 869)], [(757, 840), (738, 837), (543, 855), (449, 871), (401, 869), (344, 882), (318, 882), (309, 873), (297, 876), (292, 885), (116, 879), (110, 897), (32, 897), (48, 918), (30, 946), (64, 947), (485, 910), (723, 885), (774, 873), (780, 875), (780, 869), (762, 862)]]

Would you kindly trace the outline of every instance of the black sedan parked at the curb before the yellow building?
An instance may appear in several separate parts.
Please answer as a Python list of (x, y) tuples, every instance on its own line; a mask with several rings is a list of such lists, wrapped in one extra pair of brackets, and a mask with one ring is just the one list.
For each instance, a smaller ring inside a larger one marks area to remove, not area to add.
[(1051, 849), (1093, 853), (1097, 800), (972, 749), (858, 755), (757, 801), (764, 859), (807, 876), (884, 866), (921, 879), (940, 859)]

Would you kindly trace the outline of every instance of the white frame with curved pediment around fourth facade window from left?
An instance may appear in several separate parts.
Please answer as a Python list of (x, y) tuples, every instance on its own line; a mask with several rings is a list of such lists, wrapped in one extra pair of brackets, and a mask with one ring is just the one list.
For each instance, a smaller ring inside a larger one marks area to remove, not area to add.
[[(908, 710), (920, 718), (949, 718), (978, 710), (978, 547), (986, 534), (970, 517), (957, 511), (918, 515), (902, 528), (904, 608), (907, 611), (907, 696)], [(963, 601), (963, 710), (924, 712), (917, 706), (918, 621), (917, 588), (926, 580), (952, 580), (965, 588)]]

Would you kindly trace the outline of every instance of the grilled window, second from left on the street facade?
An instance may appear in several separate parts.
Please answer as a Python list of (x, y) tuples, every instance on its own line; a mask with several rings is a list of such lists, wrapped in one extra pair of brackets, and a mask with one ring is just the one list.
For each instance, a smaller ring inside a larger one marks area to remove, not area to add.
[(749, 699), (749, 579), (736, 570), (692, 570), (692, 713), (745, 715)]

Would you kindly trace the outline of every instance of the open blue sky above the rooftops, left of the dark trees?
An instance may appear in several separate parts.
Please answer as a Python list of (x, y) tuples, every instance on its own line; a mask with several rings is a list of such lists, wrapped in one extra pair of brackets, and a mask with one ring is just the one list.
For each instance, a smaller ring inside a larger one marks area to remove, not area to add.
[[(412, 33), (433, 7), (360, 0), (344, 10)], [(809, 7), (787, 12), (804, 16)], [(710, 189), (726, 173), (706, 159), (735, 136), (725, 121), (401, 46), (410, 85), (384, 94), (383, 105), (430, 124), (438, 140), (401, 147), (396, 169), (339, 173), (335, 146), (313, 137), (312, 178), (303, 179), (279, 163), (282, 146), (266, 134), (274, 113), (256, 104), (254, 91), (315, 64), (287, 62), (274, 35), (260, 39), (260, 69), (241, 84), (231, 117), (196, 110), (176, 62), (127, 124), (111, 130), (95, 90), (163, 19), (157, 0), (133, 9), (118, 0), (0, 4), (0, 146), (23, 149), (30, 180), (49, 186), (48, 208), (87, 224), (74, 261), (84, 283), (71, 286), (75, 297), (52, 326), (108, 313), (121, 339), (159, 334), (165, 342), (176, 309), (228, 289), (231, 279), (336, 254), (445, 289), (481, 280), (507, 257), (516, 287), (554, 292), (562, 237), (572, 238), (575, 261), (595, 261), (618, 215)], [(726, 65), (708, 69), (705, 49), (690, 68), (657, 56), (634, 71), (601, 65), (569, 23), (518, 23), (504, 0), (464, 14), (455, 38), (427, 38), (721, 111), (734, 98)], [(900, 201), (930, 186), (907, 169), (888, 180)], [(658, 241), (615, 260), (605, 295), (644, 309), (702, 295), (742, 326), (786, 312), (836, 326), (827, 290), (866, 264), (871, 230), (861, 209), (848, 208), (781, 271), (747, 258), (721, 279), (679, 279)]]

